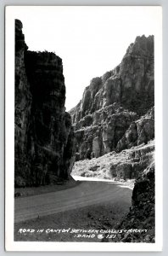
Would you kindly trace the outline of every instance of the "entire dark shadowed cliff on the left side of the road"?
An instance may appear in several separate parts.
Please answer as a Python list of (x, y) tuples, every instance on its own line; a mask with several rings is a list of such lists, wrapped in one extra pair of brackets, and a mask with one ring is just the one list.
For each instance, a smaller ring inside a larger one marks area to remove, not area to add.
[(65, 113), (62, 60), (32, 52), (15, 20), (15, 186), (69, 179), (74, 162), (74, 131)]

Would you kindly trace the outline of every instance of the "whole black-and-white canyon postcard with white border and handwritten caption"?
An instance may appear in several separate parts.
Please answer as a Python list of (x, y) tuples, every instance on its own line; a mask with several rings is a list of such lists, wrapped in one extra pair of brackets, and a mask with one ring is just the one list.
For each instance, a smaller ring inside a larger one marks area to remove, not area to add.
[(161, 8), (9, 6), (5, 29), (7, 250), (160, 248)]

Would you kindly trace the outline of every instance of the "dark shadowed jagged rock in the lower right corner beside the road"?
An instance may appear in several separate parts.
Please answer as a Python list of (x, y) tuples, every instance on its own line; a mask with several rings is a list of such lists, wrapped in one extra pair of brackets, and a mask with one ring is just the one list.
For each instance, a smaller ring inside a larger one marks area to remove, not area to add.
[[(152, 162), (137, 178), (132, 191), (130, 212), (120, 224), (115, 226), (117, 230), (130, 230), (130, 232), (117, 235), (116, 242), (155, 242), (154, 169)], [(134, 230), (145, 230), (145, 232), (134, 232)]]

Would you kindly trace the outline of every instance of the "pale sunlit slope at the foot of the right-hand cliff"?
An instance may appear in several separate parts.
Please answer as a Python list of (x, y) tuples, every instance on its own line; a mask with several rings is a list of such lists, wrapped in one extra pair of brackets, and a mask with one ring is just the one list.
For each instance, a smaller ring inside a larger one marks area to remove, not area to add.
[(114, 181), (135, 180), (154, 159), (154, 141), (116, 153), (104, 154), (92, 160), (76, 161), (71, 172), (74, 176), (99, 177)]

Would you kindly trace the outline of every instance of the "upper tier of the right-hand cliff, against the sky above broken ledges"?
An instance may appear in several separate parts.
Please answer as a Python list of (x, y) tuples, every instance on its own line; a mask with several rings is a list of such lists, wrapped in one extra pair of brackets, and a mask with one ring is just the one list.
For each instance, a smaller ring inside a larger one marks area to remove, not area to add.
[(81, 103), (70, 111), (73, 123), (114, 102), (141, 115), (154, 106), (154, 36), (137, 37), (119, 66), (92, 79)]

